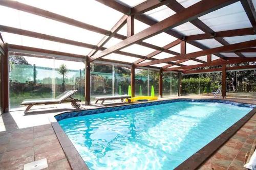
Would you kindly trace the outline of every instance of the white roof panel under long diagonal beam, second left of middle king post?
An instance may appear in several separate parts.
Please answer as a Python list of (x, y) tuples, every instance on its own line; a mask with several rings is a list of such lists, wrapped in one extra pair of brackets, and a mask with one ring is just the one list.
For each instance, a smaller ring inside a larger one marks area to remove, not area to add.
[(123, 48), (121, 51), (146, 56), (146, 55), (154, 52), (155, 50), (152, 48), (142, 46), (142, 45), (133, 44), (133, 45)]

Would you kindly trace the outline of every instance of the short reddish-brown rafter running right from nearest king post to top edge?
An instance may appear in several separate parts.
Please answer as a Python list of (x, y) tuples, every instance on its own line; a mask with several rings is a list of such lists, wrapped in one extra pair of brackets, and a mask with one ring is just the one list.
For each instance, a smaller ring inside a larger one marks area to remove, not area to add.
[(147, 11), (153, 10), (162, 5), (166, 5), (171, 1), (173, 1), (173, 0), (163, 0), (163, 1), (147, 0), (147, 1), (144, 1), (143, 3), (140, 3), (139, 5), (137, 5), (131, 9), (131, 15), (143, 14)]

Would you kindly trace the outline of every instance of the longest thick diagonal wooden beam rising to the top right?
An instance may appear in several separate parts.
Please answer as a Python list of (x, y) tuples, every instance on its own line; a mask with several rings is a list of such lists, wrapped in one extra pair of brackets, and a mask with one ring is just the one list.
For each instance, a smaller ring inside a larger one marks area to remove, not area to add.
[[(115, 51), (121, 50), (122, 48), (125, 48), (126, 46), (132, 45), (138, 41), (142, 41), (146, 38), (150, 38), (154, 35), (157, 35), (167, 29), (171, 29), (174, 27), (177, 27), (181, 25), (182, 23), (194, 20), (195, 18), (205, 15), (209, 12), (215, 11), (217, 9), (223, 8), (227, 5), (230, 5), (234, 2), (237, 2), (236, 0), (219, 0), (219, 1), (207, 1), (202, 0), (184, 10), (182, 10), (179, 13), (176, 13), (160, 22), (157, 22), (155, 25), (117, 43), (116, 45), (113, 45), (109, 47), (108, 49), (102, 51), (99, 54), (94, 55), (90, 58), (90, 61), (93, 61), (97, 58), (104, 57), (106, 55), (109, 55)], [(191, 12), (193, 11), (193, 12)]]

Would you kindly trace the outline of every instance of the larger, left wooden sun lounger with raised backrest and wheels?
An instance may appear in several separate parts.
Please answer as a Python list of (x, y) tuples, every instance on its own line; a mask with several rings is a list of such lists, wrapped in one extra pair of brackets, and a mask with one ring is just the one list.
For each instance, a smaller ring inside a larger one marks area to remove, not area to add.
[(31, 107), (34, 105), (52, 105), (68, 102), (71, 102), (71, 105), (78, 109), (80, 104), (77, 104), (76, 102), (81, 102), (81, 100), (72, 98), (72, 95), (76, 92), (77, 90), (68, 90), (58, 95), (55, 99), (28, 99), (24, 100), (20, 105), (28, 106), (25, 110), (25, 113), (27, 113), (29, 109), (31, 109)]

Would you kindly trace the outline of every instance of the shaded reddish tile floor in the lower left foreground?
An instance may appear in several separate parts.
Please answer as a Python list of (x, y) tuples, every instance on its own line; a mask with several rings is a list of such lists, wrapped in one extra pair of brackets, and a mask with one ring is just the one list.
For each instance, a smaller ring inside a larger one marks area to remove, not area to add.
[(11, 114), (1, 116), (5, 126), (11, 127), (0, 132), (1, 170), (23, 169), (24, 164), (43, 158), (47, 158), (47, 169), (71, 169), (51, 124), (18, 129), (12, 126)]

